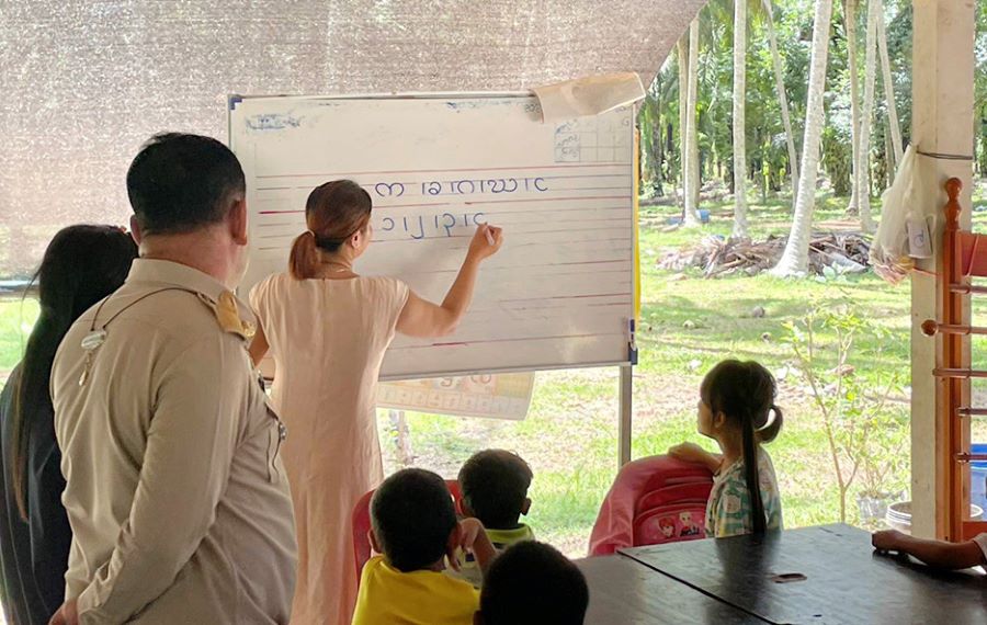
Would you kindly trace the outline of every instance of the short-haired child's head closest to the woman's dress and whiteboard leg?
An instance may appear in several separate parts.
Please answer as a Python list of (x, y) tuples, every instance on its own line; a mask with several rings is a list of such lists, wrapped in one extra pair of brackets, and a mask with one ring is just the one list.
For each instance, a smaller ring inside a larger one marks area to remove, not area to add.
[(517, 454), (503, 450), (476, 453), (460, 469), (463, 511), (494, 530), (518, 526), (531, 500), (531, 467)]

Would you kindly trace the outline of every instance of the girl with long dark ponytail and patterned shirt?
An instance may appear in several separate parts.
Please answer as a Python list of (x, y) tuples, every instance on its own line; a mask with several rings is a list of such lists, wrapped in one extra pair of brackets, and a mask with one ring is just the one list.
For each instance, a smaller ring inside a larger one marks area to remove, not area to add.
[(700, 387), (699, 432), (722, 454), (693, 443), (669, 450), (679, 459), (704, 464), (714, 474), (706, 503), (706, 536), (723, 538), (782, 529), (778, 478), (768, 452), (782, 427), (774, 405), (774, 377), (756, 362), (723, 361)]

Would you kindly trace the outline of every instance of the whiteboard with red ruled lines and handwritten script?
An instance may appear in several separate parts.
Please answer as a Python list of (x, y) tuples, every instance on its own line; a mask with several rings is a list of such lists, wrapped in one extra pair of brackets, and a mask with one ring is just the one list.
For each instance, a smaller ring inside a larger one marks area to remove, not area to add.
[(542, 124), (526, 94), (231, 98), (250, 211), (241, 292), (286, 270), (310, 191), (348, 178), (374, 202), (356, 271), (399, 277), (433, 302), (476, 225), (504, 229), (456, 332), (399, 336), (382, 378), (627, 363), (633, 113)]

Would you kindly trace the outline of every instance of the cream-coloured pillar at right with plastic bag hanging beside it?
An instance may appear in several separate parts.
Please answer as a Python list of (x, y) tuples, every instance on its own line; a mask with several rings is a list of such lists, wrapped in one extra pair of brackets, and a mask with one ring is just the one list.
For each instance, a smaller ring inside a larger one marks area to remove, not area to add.
[[(912, 57), (911, 140), (921, 151), (973, 154), (974, 36), (976, 0), (912, 0), (915, 9)], [(972, 163), (962, 160), (923, 159), (929, 180), (939, 191), (930, 213), (942, 214), (946, 202), (943, 184), (950, 178), (963, 182), (961, 228), (969, 227)], [(933, 241), (941, 241), (943, 220), (937, 223)], [(942, 275), (941, 246), (921, 269)], [(911, 281), (911, 498), (912, 534), (949, 537), (949, 457), (944, 420), (937, 419), (943, 400), (943, 383), (932, 376), (937, 365), (935, 340), (922, 336), (926, 319), (941, 319), (939, 277), (920, 273)], [(966, 320), (968, 322), (968, 309)], [(968, 364), (968, 363), (966, 363)]]

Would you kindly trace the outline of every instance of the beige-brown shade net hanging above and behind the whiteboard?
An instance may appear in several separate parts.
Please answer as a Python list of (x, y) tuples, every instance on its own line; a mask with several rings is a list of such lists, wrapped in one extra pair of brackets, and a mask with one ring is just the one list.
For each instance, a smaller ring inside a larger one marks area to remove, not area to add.
[(227, 95), (648, 83), (705, 0), (0, 0), (0, 279), (54, 231), (125, 224), (161, 130), (227, 136)]

